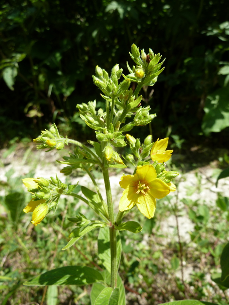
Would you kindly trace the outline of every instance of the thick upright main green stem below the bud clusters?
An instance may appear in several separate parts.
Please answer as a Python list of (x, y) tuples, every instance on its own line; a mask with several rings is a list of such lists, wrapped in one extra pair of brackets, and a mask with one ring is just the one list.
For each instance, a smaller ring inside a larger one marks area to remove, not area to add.
[(112, 205), (111, 185), (109, 179), (109, 172), (106, 167), (102, 168), (104, 175), (104, 183), (107, 194), (107, 206), (110, 220), (110, 247), (111, 247), (111, 287), (115, 288), (117, 282), (117, 240), (116, 229), (114, 227), (115, 218)]

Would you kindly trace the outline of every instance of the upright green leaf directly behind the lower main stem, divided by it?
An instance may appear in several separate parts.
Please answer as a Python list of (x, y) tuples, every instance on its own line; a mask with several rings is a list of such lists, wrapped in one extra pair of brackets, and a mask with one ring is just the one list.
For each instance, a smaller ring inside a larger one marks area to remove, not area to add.
[[(122, 244), (119, 232), (116, 231), (117, 237), (117, 267), (122, 254)], [(98, 252), (99, 258), (102, 261), (104, 267), (111, 273), (111, 249), (110, 249), (110, 231), (108, 227), (100, 229), (98, 236)]]

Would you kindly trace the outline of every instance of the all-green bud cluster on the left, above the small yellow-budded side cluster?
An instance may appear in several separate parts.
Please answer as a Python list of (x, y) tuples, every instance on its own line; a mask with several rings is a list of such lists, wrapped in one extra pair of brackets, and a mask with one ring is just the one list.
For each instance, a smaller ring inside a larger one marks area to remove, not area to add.
[(94, 130), (102, 131), (105, 126), (106, 112), (103, 109), (96, 111), (96, 101), (88, 102), (88, 104), (77, 104), (80, 117), (85, 123)]

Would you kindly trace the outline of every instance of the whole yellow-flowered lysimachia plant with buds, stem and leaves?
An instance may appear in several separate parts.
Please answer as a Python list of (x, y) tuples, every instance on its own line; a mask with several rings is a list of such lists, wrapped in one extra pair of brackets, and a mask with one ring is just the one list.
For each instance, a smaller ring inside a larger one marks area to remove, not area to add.
[[(118, 268), (122, 253), (119, 231), (128, 230), (138, 233), (142, 227), (136, 221), (123, 222), (123, 216), (136, 205), (139, 211), (147, 218), (152, 218), (156, 209), (156, 199), (163, 198), (169, 192), (176, 191), (171, 182), (179, 173), (167, 171), (165, 162), (171, 157), (173, 150), (166, 150), (168, 138), (157, 139), (152, 142), (148, 135), (144, 142), (136, 139), (129, 132), (134, 126), (146, 126), (155, 114), (150, 114), (150, 107), (141, 106), (142, 95), (139, 92), (143, 86), (152, 86), (156, 83), (158, 75), (163, 71), (160, 54), (154, 55), (149, 49), (141, 54), (132, 45), (131, 58), (136, 65), (129, 70), (128, 75), (122, 74), (122, 69), (116, 64), (111, 74), (96, 66), (93, 75), (94, 84), (102, 91), (100, 94), (106, 103), (106, 110), (96, 110), (96, 101), (88, 104), (78, 104), (80, 117), (93, 130), (98, 142), (87, 141), (90, 145), (64, 138), (58, 132), (55, 124), (49, 130), (41, 132), (34, 142), (38, 149), (63, 149), (65, 145), (75, 144), (74, 153), (64, 157), (59, 163), (67, 165), (61, 172), (69, 175), (80, 168), (87, 173), (96, 192), (81, 187), (83, 196), (74, 192), (76, 185), (67, 185), (57, 177), (26, 178), (23, 180), (28, 191), (31, 192), (31, 201), (24, 212), (32, 212), (32, 223), (36, 226), (42, 222), (50, 210), (56, 210), (60, 196), (74, 196), (81, 199), (93, 209), (97, 220), (89, 220), (79, 213), (69, 221), (75, 228), (69, 234), (70, 241), (62, 250), (71, 247), (78, 239), (91, 230), (99, 228), (98, 255), (104, 265), (104, 271), (97, 271), (86, 266), (67, 266), (48, 271), (29, 280), (24, 285), (85, 285), (93, 284), (91, 289), (92, 305), (99, 304), (125, 304), (125, 289), (118, 275)], [(160, 62), (160, 63), (159, 63)], [(123, 76), (124, 80), (119, 81)], [(136, 89), (130, 88), (136, 82)], [(128, 118), (128, 122), (127, 121)], [(128, 132), (128, 133), (126, 133)], [(116, 147), (129, 144), (131, 154), (120, 156)], [(109, 170), (114, 168), (125, 169), (134, 167), (133, 175), (123, 174), (120, 187), (123, 188), (119, 202), (118, 214), (114, 213), (114, 204), (111, 196)], [(103, 174), (106, 189), (106, 199), (100, 193), (99, 186), (92, 173), (92, 168)], [(109, 245), (109, 247), (107, 247)], [(100, 282), (100, 283), (98, 283)]]

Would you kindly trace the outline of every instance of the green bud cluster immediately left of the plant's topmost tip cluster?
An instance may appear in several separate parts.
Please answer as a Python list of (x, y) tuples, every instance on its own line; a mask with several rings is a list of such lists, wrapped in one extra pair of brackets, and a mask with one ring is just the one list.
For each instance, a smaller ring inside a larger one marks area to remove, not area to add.
[(96, 66), (96, 75), (93, 75), (94, 84), (105, 94), (105, 96), (116, 97), (127, 90), (130, 85), (130, 80), (124, 80), (118, 84), (118, 80), (122, 75), (122, 69), (115, 65), (111, 70), (111, 77), (106, 70)]

